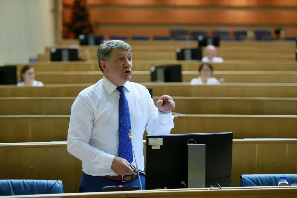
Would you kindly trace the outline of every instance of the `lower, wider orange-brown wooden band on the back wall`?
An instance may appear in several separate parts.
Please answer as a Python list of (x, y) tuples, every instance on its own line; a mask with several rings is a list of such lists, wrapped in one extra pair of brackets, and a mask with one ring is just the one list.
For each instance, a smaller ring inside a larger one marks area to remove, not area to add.
[(297, 25), (289, 10), (91, 9), (90, 17), (101, 25)]

